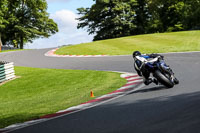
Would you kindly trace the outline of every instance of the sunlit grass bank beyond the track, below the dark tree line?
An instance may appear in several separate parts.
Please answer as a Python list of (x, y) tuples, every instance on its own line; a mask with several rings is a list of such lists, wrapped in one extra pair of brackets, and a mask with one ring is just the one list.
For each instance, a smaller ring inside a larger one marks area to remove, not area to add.
[(62, 47), (56, 54), (130, 55), (135, 50), (142, 53), (200, 51), (200, 31), (156, 33), (95, 41)]

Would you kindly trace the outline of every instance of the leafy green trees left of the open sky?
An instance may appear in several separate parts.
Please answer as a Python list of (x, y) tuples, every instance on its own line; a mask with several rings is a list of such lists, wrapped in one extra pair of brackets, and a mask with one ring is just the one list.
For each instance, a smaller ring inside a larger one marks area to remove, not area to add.
[(46, 0), (0, 0), (0, 46), (23, 49), (27, 42), (58, 32)]

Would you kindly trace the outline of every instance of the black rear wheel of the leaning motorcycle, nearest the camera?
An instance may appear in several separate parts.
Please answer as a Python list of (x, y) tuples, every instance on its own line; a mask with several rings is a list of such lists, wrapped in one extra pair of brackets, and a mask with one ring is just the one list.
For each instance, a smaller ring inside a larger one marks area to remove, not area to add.
[(154, 72), (154, 77), (157, 78), (158, 82), (166, 86), (167, 88), (174, 87), (174, 83), (170, 79), (168, 79), (164, 74), (162, 74), (159, 70)]

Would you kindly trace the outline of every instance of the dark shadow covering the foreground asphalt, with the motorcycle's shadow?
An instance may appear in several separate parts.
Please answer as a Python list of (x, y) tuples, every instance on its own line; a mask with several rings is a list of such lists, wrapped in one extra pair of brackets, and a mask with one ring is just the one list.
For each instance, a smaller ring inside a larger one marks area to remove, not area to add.
[(165, 88), (160, 86), (149, 88), (146, 92), (141, 90), (142, 93), (130, 94), (120, 100), (14, 133), (198, 133), (200, 91), (142, 97), (162, 89)]

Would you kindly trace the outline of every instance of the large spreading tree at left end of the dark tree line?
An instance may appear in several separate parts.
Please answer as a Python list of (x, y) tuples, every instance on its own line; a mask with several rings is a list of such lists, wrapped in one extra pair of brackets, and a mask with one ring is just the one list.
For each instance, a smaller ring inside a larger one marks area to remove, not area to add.
[(136, 28), (135, 0), (96, 0), (91, 8), (78, 8), (77, 28), (88, 27), (93, 40), (102, 40), (131, 35)]

